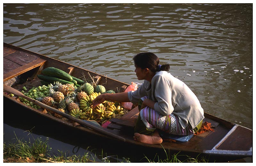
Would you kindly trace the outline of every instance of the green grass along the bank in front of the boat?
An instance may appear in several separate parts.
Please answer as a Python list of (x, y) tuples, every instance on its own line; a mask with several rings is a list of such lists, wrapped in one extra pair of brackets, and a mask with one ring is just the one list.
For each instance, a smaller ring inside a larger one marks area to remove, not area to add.
[[(16, 136), (16, 134), (15, 134)], [(43, 141), (41, 138), (36, 138), (33, 141), (24, 141), (24, 139), (18, 139), (16, 136), (15, 143), (6, 143), (3, 144), (3, 158), (4, 162), (37, 162), (37, 163), (54, 163), (54, 162), (69, 162), (69, 163), (79, 163), (79, 162), (87, 162), (87, 163), (108, 163), (108, 162), (132, 162), (129, 161), (129, 158), (121, 158), (118, 156), (107, 156), (100, 154), (100, 156), (93, 155), (92, 153), (86, 152), (84, 155), (67, 155), (62, 151), (59, 151), (59, 155), (50, 155), (52, 150), (48, 145), (48, 139)], [(33, 143), (32, 143), (33, 142)], [(166, 152), (166, 151), (165, 151)], [(100, 158), (99, 158), (100, 157)], [(207, 159), (204, 158), (190, 158), (189, 156), (175, 154), (172, 155), (172, 158), (169, 158), (166, 153), (166, 159), (160, 159), (156, 154), (153, 160), (148, 159), (145, 156), (143, 159), (147, 162), (172, 162), (172, 163), (181, 163), (181, 162), (208, 162)], [(182, 161), (179, 158), (183, 158)]]

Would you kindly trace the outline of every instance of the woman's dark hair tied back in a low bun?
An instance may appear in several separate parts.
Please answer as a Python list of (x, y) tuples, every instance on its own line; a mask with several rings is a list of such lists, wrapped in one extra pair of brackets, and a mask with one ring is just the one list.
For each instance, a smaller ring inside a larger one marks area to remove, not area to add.
[(147, 53), (139, 53), (133, 57), (134, 64), (141, 69), (148, 68), (152, 72), (156, 71), (169, 71), (170, 65), (158, 65), (159, 58), (150, 52)]

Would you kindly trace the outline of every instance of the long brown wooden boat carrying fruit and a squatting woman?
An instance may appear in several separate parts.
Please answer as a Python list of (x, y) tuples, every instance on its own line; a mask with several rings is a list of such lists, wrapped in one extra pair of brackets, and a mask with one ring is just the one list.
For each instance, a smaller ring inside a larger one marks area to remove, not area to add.
[[(77, 78), (81, 78), (82, 75), (90, 75), (95, 79), (97, 84), (105, 84), (105, 87), (108, 89), (114, 90), (118, 88), (118, 90), (124, 91), (125, 88), (129, 86), (129, 84), (122, 83), (86, 69), (82, 69), (6, 43), (4, 43), (3, 64), (4, 92), (7, 93), (10, 93), (12, 90), (20, 91), (21, 87), (24, 85), (41, 85), (36, 75), (40, 74), (42, 69), (47, 67), (61, 69)], [(11, 88), (10, 86), (6, 88), (5, 84), (8, 84), (13, 78), (17, 77), (19, 77), (20, 80), (23, 80), (23, 82), (17, 85), (13, 84)], [(169, 150), (173, 153), (182, 152), (184, 154), (193, 154), (196, 156), (204, 155), (213, 161), (230, 161), (245, 157), (252, 157), (251, 129), (220, 119), (206, 112), (204, 114), (204, 121), (212, 124), (214, 132), (206, 131), (203, 134), (194, 135), (187, 142), (163, 141), (163, 143), (159, 145), (150, 145), (133, 140), (133, 128), (139, 113), (138, 107), (136, 106), (134, 106), (130, 112), (126, 113), (121, 118), (111, 119), (111, 123), (108, 125), (108, 128), (104, 129), (101, 126), (95, 126), (92, 123), (88, 123), (88, 127), (87, 122), (84, 123), (84, 120), (76, 119), (76, 121), (70, 122), (58, 119), (44, 113), (42, 111), (43, 109), (37, 110), (23, 104), (18, 100), (18, 96), (10, 97), (4, 93), (4, 99), (8, 101), (10, 100), (12, 103), (18, 104), (20, 107), (24, 107), (31, 112), (36, 112), (41, 116), (52, 119), (66, 126), (76, 128), (79, 131), (90, 133), (104, 139), (114, 139), (120, 143), (124, 142), (128, 145), (131, 144), (136, 147), (151, 149), (152, 153), (155, 153), (156, 149), (163, 150), (164, 148), (166, 151)]]

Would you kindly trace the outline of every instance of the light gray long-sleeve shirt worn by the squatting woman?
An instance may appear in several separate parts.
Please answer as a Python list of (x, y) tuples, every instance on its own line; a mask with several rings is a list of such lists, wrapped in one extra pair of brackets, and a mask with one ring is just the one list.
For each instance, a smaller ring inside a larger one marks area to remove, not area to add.
[(173, 113), (178, 116), (180, 125), (195, 128), (204, 119), (204, 110), (196, 95), (188, 86), (166, 71), (156, 72), (151, 83), (144, 83), (135, 91), (128, 92), (128, 98), (138, 103), (141, 97), (147, 96), (155, 101), (154, 110), (167, 116)]

